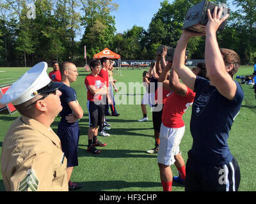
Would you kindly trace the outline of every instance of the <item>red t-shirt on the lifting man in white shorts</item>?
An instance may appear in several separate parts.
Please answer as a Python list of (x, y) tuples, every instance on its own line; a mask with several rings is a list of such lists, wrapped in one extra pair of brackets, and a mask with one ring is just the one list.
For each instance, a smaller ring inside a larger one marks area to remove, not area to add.
[(182, 115), (193, 104), (195, 95), (195, 92), (189, 89), (189, 87), (186, 96), (179, 96), (172, 92), (166, 99), (163, 107), (162, 122), (164, 126), (168, 128), (182, 128), (185, 125)]

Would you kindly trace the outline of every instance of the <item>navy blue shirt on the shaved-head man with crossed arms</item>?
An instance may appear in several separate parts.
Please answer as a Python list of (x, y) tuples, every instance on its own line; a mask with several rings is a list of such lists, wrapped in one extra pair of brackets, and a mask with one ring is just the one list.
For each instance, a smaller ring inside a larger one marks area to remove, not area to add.
[(70, 108), (70, 106), (68, 106), (68, 103), (71, 102), (71, 101), (76, 101), (77, 100), (76, 91), (72, 87), (68, 87), (65, 84), (63, 84), (60, 87), (59, 90), (62, 93), (61, 96), (60, 96), (60, 101), (61, 101), (61, 106), (62, 106), (62, 110), (60, 112), (61, 123), (65, 124), (68, 127), (70, 127), (70, 126), (77, 126), (78, 125), (78, 120), (76, 122), (74, 122), (74, 123), (69, 123), (65, 119), (65, 117), (67, 115), (72, 113), (72, 109)]

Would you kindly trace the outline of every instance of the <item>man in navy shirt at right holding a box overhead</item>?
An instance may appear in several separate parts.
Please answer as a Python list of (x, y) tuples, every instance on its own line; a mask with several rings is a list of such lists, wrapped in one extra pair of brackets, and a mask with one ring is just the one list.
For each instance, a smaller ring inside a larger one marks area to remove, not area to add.
[(192, 149), (186, 163), (186, 191), (237, 191), (240, 170), (232, 156), (227, 139), (232, 123), (241, 108), (243, 90), (233, 80), (240, 66), (234, 50), (220, 49), (216, 31), (228, 15), (220, 19), (223, 8), (211, 14), (206, 25), (205, 64), (206, 80), (196, 77), (184, 65), (188, 40), (203, 34), (183, 31), (173, 57), (173, 69), (184, 84), (196, 92), (190, 122)]

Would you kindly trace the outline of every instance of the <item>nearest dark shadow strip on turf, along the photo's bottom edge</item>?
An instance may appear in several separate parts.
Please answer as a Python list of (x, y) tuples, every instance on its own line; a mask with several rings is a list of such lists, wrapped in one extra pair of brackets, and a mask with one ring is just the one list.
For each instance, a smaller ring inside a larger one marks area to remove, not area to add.
[(81, 184), (83, 187), (79, 191), (121, 190), (129, 187), (161, 187), (160, 182), (126, 182), (124, 180), (88, 181)]

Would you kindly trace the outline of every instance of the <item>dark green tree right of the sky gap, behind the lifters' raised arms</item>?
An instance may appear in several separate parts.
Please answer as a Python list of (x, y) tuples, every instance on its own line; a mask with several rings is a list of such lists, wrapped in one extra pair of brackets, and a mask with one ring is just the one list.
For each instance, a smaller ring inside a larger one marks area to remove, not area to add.
[[(182, 33), (182, 25), (188, 9), (200, 1), (201, 0), (175, 0), (171, 4), (167, 0), (164, 0), (161, 3), (161, 8), (154, 15), (148, 27), (147, 49), (150, 53), (150, 58), (155, 57), (156, 45), (176, 47), (177, 41)], [(214, 2), (227, 3), (227, 1)], [(193, 38), (193, 40), (190, 40), (188, 50), (193, 57), (202, 58), (204, 56), (204, 38)]]

